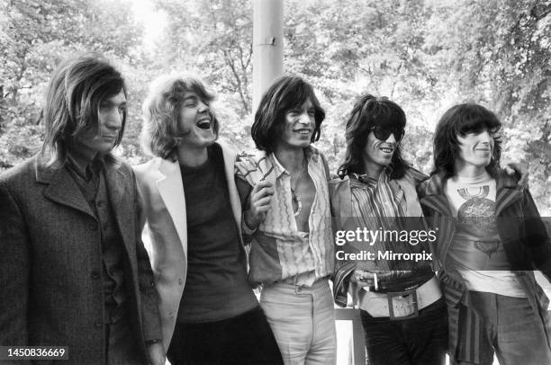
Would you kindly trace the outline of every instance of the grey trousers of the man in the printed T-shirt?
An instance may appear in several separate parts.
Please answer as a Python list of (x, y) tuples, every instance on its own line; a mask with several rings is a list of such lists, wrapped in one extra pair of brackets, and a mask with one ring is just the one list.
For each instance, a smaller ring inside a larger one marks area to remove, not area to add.
[[(501, 365), (543, 365), (551, 364), (551, 352), (546, 342), (544, 323), (530, 306), (528, 298), (506, 297), (483, 291), (469, 293), (471, 307), (461, 307), (459, 314), (458, 364), (474, 364), (462, 361), (462, 354), (479, 352), (480, 362), (476, 365), (491, 365), (493, 354)], [(467, 343), (465, 333), (466, 311), (474, 310), (482, 325), (480, 341)]]

